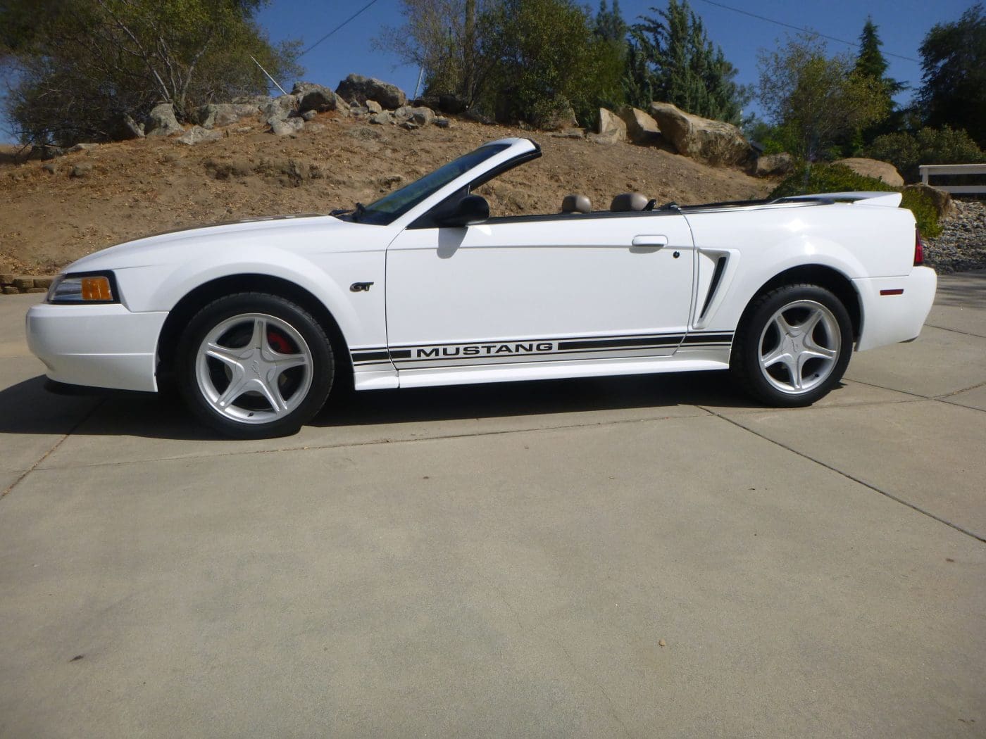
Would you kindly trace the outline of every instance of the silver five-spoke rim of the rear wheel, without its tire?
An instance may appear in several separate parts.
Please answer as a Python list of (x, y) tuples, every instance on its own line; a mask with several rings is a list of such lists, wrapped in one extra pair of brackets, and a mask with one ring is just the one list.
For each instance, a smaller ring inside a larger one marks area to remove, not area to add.
[(789, 302), (760, 332), (760, 370), (781, 392), (806, 392), (832, 373), (841, 342), (831, 310), (820, 302)]

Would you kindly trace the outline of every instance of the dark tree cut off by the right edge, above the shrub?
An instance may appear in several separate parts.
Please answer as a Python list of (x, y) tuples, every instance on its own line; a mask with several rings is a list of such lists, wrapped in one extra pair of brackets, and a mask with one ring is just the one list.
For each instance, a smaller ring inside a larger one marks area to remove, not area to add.
[(938, 24), (921, 43), (918, 101), (925, 123), (964, 128), (986, 149), (986, 18), (976, 3), (954, 23)]

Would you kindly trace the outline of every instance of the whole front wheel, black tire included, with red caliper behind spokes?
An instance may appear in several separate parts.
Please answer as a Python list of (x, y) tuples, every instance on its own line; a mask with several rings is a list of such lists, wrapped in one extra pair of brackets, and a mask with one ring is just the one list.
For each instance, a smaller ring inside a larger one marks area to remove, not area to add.
[[(207, 339), (215, 347), (208, 354)], [(324, 329), (279, 296), (238, 293), (210, 302), (178, 342), (181, 396), (199, 421), (227, 437), (296, 434), (324, 405), (334, 374)]]

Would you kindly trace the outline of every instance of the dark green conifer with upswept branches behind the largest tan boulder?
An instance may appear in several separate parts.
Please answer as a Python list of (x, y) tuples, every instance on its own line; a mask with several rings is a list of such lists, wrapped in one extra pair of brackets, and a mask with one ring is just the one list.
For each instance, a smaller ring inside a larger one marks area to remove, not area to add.
[(660, 100), (706, 118), (740, 123), (749, 93), (735, 82), (737, 69), (709, 40), (687, 0), (641, 17), (631, 32), (625, 87), (639, 107)]

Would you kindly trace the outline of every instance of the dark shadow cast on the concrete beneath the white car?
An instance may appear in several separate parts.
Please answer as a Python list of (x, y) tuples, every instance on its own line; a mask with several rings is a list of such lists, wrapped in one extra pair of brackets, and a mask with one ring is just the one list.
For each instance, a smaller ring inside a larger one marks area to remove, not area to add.
[[(368, 392), (343, 386), (333, 389), (311, 425), (426, 424), (696, 405), (759, 407), (735, 388), (727, 372), (708, 371)], [(61, 395), (44, 388), (43, 376), (0, 390), (0, 434), (220, 438), (197, 425), (174, 394)]]

